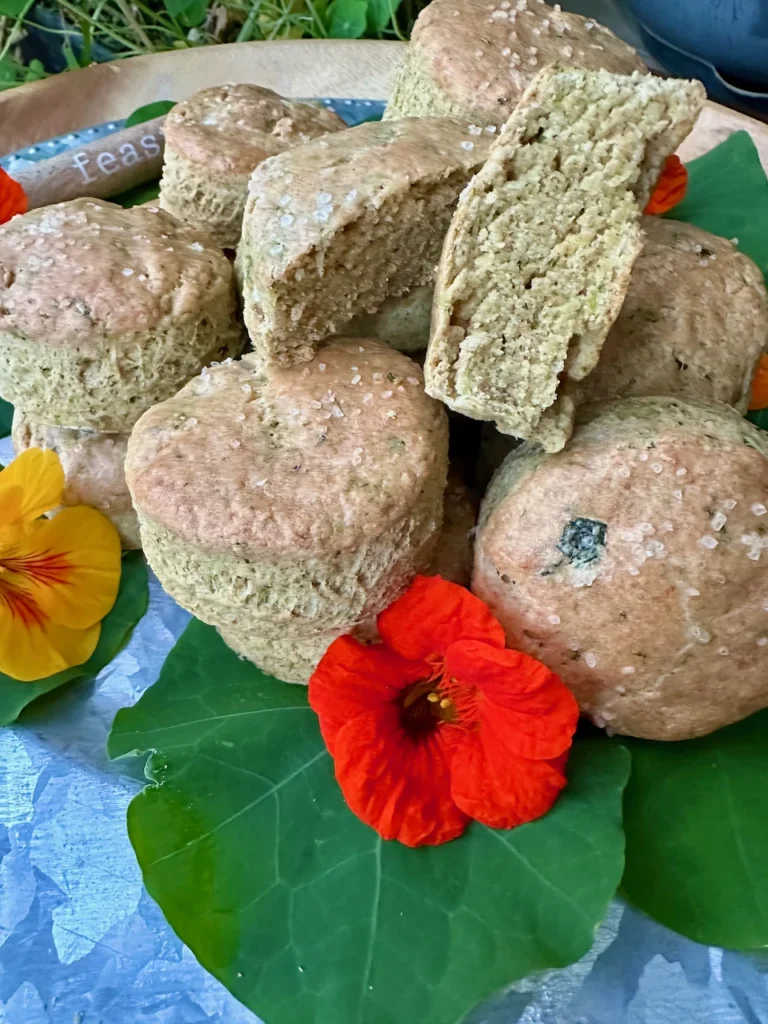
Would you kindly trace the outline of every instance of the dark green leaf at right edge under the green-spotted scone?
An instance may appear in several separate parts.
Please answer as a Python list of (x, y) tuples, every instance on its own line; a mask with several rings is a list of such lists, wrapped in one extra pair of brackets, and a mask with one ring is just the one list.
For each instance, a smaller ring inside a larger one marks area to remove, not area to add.
[(697, 942), (768, 945), (768, 711), (701, 739), (626, 742), (628, 897)]

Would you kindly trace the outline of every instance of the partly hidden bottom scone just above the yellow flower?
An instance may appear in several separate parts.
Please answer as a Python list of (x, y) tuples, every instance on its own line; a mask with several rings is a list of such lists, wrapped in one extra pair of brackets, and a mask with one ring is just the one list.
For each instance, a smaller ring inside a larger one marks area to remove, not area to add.
[(136, 513), (125, 482), (128, 434), (35, 423), (19, 410), (13, 416), (13, 449), (51, 449), (65, 471), (63, 505), (90, 505), (115, 523), (124, 548), (140, 548)]

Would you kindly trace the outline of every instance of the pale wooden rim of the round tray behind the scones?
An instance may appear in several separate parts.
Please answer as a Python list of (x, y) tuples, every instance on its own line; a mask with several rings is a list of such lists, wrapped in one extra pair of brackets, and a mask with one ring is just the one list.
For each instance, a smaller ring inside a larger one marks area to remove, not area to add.
[[(229, 43), (93, 65), (0, 92), (0, 154), (225, 82), (254, 82), (286, 96), (386, 99), (404, 45), (327, 39)], [(708, 102), (681, 156), (707, 153), (738, 129), (752, 134), (768, 171), (768, 125), (718, 103)]]

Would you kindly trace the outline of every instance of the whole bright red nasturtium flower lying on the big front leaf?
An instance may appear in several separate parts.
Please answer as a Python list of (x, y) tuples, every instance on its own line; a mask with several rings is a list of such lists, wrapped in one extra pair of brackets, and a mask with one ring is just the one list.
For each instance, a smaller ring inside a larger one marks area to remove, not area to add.
[(546, 814), (579, 719), (559, 677), (440, 577), (417, 577), (376, 625), (381, 643), (339, 637), (309, 680), (349, 809), (406, 846)]

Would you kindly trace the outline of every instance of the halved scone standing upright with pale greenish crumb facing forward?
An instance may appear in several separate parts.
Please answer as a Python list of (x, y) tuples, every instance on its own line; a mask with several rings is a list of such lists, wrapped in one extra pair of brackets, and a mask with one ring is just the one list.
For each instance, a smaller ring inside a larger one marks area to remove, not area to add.
[(698, 82), (639, 74), (538, 76), (445, 239), (429, 394), (562, 447), (573, 419), (562, 379), (597, 364), (642, 248), (640, 210), (703, 98)]

